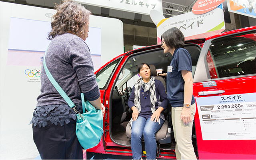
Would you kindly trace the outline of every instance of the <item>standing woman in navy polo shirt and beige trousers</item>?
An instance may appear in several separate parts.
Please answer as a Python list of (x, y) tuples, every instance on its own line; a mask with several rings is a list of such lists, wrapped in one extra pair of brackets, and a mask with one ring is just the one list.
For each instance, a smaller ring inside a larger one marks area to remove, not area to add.
[(184, 49), (185, 38), (176, 28), (166, 30), (162, 36), (164, 53), (172, 54), (172, 62), (168, 66), (167, 98), (172, 106), (172, 125), (176, 141), (177, 159), (196, 159), (192, 145), (192, 126), (196, 113), (193, 96), (192, 60)]

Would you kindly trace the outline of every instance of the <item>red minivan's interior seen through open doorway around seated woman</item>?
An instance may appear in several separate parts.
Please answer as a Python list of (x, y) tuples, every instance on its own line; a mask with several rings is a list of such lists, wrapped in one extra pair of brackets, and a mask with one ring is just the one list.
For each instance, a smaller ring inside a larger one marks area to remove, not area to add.
[[(192, 58), (192, 75), (196, 68), (196, 63), (201, 52), (201, 47), (197, 44), (185, 45), (185, 49)], [(166, 73), (167, 66), (170, 65), (172, 55), (170, 53), (164, 54), (162, 48), (150, 50), (148, 52), (138, 52), (132, 54), (126, 60), (126, 65), (123, 65), (118, 79), (112, 92), (112, 103), (110, 103), (110, 138), (116, 144), (130, 147), (131, 128), (128, 122), (132, 118), (132, 110), (128, 107), (127, 102), (132, 92), (132, 87), (135, 82), (140, 79), (138, 75), (138, 65), (146, 62), (150, 65), (151, 76), (160, 79), (166, 85), (166, 77), (159, 76), (158, 73)], [(166, 88), (166, 86), (165, 86)], [(173, 136), (172, 122), (171, 122), (171, 106), (164, 110), (166, 122), (162, 128), (156, 133), (156, 141), (158, 143), (158, 151), (160, 149), (175, 148), (175, 140)], [(193, 130), (193, 134), (194, 130)], [(196, 150), (196, 139), (193, 136), (193, 144)]]

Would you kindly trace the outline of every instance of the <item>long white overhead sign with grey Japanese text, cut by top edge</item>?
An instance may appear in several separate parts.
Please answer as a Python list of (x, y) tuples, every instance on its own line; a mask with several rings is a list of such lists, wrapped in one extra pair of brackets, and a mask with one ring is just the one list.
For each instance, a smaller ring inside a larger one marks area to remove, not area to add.
[(82, 4), (149, 15), (150, 10), (163, 14), (162, 0), (76, 0)]

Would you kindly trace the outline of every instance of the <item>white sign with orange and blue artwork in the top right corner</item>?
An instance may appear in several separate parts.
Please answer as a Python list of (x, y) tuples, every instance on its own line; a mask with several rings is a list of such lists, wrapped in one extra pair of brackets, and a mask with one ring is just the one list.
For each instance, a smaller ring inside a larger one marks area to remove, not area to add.
[(255, 0), (227, 0), (228, 12), (256, 18)]

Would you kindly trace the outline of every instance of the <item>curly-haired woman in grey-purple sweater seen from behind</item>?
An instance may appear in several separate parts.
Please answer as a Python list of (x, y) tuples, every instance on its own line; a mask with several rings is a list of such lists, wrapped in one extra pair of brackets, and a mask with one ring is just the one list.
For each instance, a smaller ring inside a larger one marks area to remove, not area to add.
[[(79, 112), (82, 112), (80, 93), (83, 92), (85, 98), (104, 114), (90, 50), (85, 43), (91, 12), (73, 0), (63, 1), (56, 10), (45, 57), (48, 70)], [(31, 123), (41, 158), (82, 159), (82, 146), (75, 132), (76, 113), (54, 88), (44, 66), (37, 102)]]

